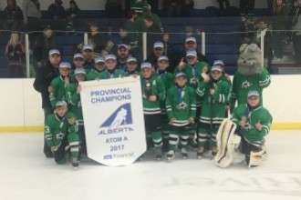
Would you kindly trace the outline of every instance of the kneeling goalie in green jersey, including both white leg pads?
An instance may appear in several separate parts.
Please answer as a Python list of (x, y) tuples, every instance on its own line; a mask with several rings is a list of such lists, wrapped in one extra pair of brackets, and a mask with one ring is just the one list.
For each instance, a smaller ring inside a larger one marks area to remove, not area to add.
[[(249, 168), (261, 165), (263, 157), (266, 155), (265, 135), (270, 132), (272, 120), (269, 111), (260, 105), (259, 93), (249, 91), (247, 104), (238, 105), (234, 108), (232, 121), (237, 125), (235, 135), (233, 133), (230, 133), (227, 137), (222, 137), (222, 135), (228, 133), (217, 135), (219, 154), (215, 157), (215, 161), (218, 165), (224, 168), (233, 162), (233, 159), (230, 161), (227, 161), (227, 159), (234, 156), (227, 154), (234, 154), (234, 146), (237, 147), (235, 142), (237, 141), (237, 135), (241, 137), (240, 151), (245, 155), (245, 161)], [(228, 141), (224, 142), (223, 138), (228, 138), (226, 139)]]

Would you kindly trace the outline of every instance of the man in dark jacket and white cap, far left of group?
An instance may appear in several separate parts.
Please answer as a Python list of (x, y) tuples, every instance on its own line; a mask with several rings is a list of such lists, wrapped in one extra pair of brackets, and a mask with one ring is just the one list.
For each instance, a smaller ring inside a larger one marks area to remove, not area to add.
[[(57, 49), (51, 49), (48, 54), (48, 61), (46, 65), (43, 65), (38, 68), (36, 79), (34, 82), (34, 88), (42, 96), (42, 108), (44, 110), (45, 121), (47, 116), (53, 113), (48, 87), (51, 81), (59, 75), (58, 65), (61, 61), (60, 53)], [(47, 157), (53, 157), (53, 154), (50, 148), (47, 146), (46, 141), (44, 140), (44, 154)]]

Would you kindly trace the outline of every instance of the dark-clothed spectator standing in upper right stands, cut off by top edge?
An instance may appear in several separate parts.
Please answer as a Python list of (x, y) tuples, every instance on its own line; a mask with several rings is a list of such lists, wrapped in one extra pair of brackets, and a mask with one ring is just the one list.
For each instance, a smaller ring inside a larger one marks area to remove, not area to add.
[[(284, 0), (275, 0), (273, 8), (273, 32), (275, 43), (275, 61), (283, 61), (283, 39), (288, 22), (288, 10)], [(280, 32), (281, 31), (281, 32)]]

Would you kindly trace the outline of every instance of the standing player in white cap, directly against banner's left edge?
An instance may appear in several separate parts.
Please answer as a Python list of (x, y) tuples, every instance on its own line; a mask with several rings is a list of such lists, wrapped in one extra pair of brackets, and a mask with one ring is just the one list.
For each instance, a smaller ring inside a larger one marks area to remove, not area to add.
[(80, 95), (79, 95), (81, 90), (79, 83), (85, 80), (86, 80), (86, 70), (83, 67), (78, 67), (74, 71), (73, 83), (68, 85), (66, 88), (66, 96), (67, 96), (67, 103), (69, 105), (70, 112), (72, 112), (77, 116), (78, 136), (79, 136), (79, 142), (81, 147), (80, 153), (87, 154), (84, 118), (83, 118)]

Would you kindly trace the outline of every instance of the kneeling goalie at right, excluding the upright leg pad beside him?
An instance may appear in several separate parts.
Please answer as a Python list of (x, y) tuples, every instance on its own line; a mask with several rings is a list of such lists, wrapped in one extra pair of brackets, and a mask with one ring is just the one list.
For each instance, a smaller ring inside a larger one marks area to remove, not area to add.
[(232, 121), (237, 125), (235, 133), (241, 136), (242, 153), (250, 167), (261, 165), (265, 150), (265, 136), (270, 132), (273, 117), (260, 105), (258, 91), (248, 92), (247, 104), (234, 108)]

